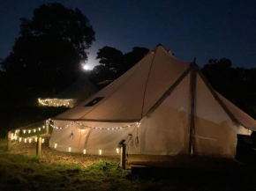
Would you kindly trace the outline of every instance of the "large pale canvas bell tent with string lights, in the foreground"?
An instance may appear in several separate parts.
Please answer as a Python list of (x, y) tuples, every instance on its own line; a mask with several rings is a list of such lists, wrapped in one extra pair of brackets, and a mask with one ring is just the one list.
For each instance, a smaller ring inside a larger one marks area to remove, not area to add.
[(162, 45), (79, 106), (59, 114), (49, 146), (59, 151), (117, 155), (193, 154), (234, 158), (237, 134), (256, 121), (215, 92), (195, 63)]

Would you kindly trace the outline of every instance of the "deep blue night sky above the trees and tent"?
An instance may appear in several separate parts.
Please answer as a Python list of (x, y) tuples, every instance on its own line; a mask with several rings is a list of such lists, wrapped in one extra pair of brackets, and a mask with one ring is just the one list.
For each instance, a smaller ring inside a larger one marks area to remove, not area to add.
[(19, 37), (19, 18), (32, 18), (40, 4), (59, 2), (79, 8), (94, 27), (96, 41), (88, 64), (97, 63), (104, 46), (124, 53), (133, 47), (154, 48), (161, 42), (179, 60), (200, 65), (211, 58), (229, 58), (236, 67), (256, 67), (255, 0), (0, 0), (0, 57)]

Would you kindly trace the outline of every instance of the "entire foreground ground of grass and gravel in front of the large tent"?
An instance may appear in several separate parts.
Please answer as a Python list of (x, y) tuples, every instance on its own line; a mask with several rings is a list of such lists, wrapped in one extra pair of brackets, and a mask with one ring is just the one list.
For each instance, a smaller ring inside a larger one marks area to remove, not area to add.
[(256, 190), (255, 170), (140, 169), (118, 167), (115, 158), (52, 150), (41, 158), (34, 145), (0, 143), (0, 190)]

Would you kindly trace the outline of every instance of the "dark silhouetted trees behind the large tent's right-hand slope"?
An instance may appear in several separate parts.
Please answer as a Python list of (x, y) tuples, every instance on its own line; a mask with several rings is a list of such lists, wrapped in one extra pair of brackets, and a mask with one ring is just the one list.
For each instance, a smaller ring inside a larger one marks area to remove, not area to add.
[(233, 68), (229, 59), (210, 59), (202, 68), (217, 92), (256, 119), (256, 69)]

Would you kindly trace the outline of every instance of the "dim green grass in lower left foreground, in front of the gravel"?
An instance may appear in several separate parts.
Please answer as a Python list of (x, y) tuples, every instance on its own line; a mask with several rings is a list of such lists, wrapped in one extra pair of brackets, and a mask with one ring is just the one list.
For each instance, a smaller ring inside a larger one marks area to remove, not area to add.
[(131, 190), (129, 172), (101, 160), (86, 170), (79, 165), (41, 165), (39, 158), (0, 154), (0, 190)]

